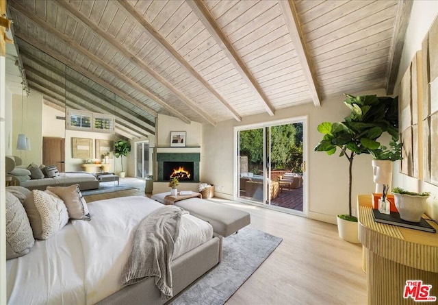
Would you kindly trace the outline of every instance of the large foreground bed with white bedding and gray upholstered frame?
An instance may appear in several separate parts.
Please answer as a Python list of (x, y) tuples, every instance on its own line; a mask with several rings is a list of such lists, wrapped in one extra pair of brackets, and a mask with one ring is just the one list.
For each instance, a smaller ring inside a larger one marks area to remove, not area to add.
[[(138, 223), (164, 207), (147, 197), (88, 204), (91, 221), (70, 220), (29, 254), (7, 260), (8, 304), (164, 304), (153, 278), (122, 288)], [(190, 214), (181, 217), (171, 263), (173, 295), (220, 262), (222, 236)]]

